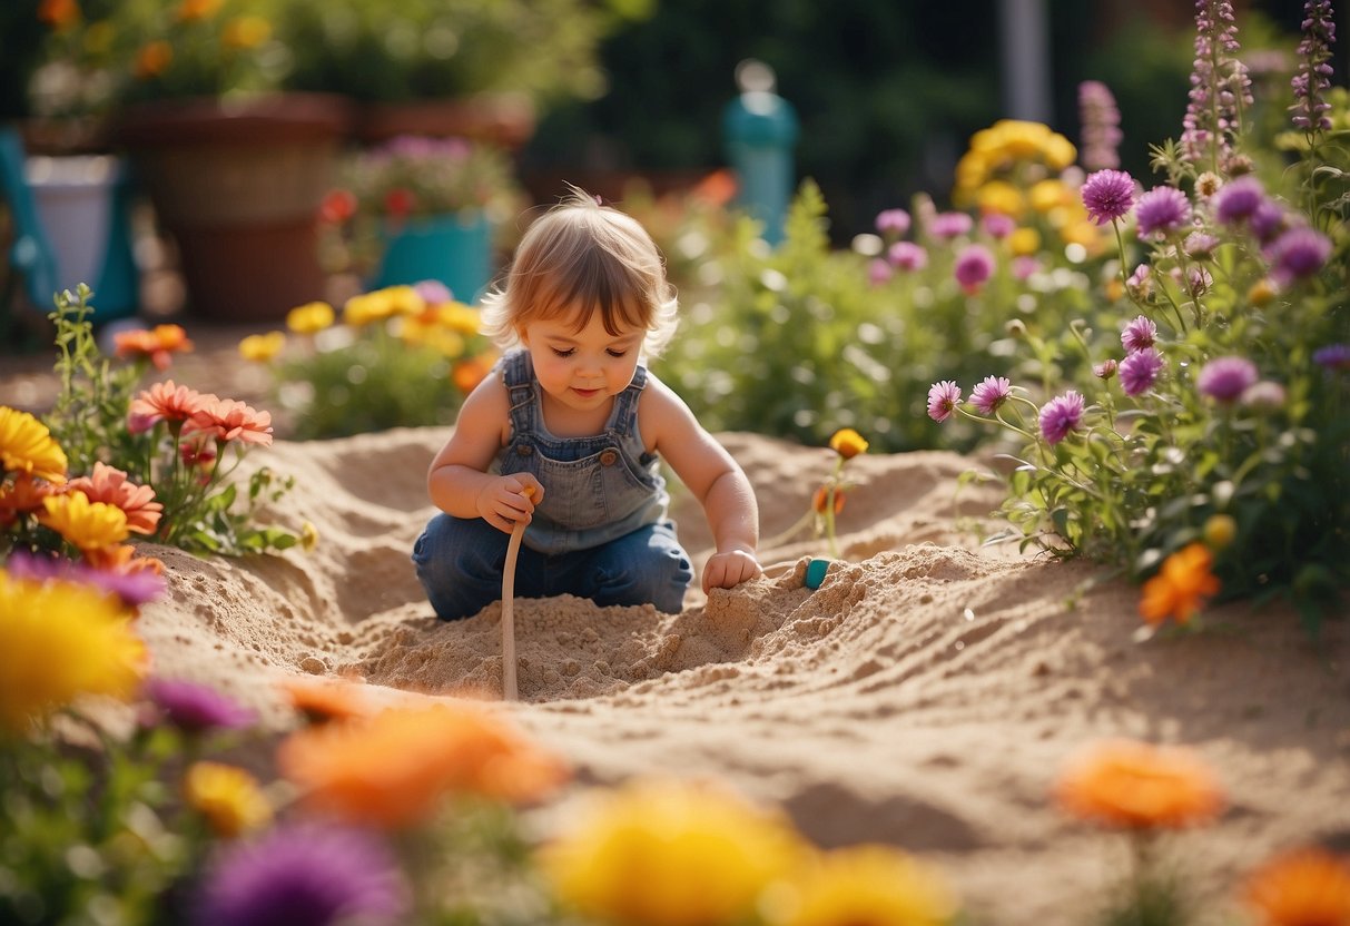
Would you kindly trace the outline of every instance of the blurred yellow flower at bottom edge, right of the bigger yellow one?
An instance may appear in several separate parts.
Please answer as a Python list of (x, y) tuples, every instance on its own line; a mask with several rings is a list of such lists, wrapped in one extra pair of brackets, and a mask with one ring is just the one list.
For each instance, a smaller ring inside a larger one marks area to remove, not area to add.
[(764, 906), (771, 926), (941, 926), (959, 907), (941, 872), (883, 845), (821, 856), (805, 875), (771, 891)]

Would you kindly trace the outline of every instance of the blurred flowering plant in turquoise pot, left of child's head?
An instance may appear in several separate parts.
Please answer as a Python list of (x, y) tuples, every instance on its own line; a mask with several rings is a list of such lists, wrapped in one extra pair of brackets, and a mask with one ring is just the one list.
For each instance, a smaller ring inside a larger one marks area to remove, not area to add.
[(494, 239), (525, 202), (510, 157), (487, 142), (404, 135), (348, 154), (325, 202), (333, 269), (371, 288), (436, 279), (473, 302)]

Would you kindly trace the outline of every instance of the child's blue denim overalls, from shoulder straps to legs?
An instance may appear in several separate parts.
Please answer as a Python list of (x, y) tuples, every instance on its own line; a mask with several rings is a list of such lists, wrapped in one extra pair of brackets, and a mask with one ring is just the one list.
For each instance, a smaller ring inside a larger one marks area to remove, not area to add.
[[(558, 437), (544, 427), (529, 354), (509, 354), (498, 369), (512, 433), (491, 471), (529, 472), (544, 486), (521, 541), (516, 595), (571, 594), (602, 606), (651, 603), (679, 611), (694, 572), (667, 517), (670, 494), (659, 460), (637, 433), (647, 370), (639, 366), (614, 397), (603, 431)], [(509, 541), (510, 535), (482, 518), (432, 517), (413, 545), (413, 563), (437, 617), (471, 617), (501, 598)]]

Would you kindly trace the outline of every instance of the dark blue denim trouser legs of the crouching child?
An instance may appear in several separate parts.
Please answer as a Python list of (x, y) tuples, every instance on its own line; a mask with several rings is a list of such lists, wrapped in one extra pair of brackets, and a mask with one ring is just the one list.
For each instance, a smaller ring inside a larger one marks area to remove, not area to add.
[[(440, 513), (413, 544), (417, 578), (443, 621), (473, 617), (502, 597), (510, 535), (482, 518)], [(599, 606), (653, 605), (675, 614), (694, 578), (675, 525), (651, 524), (591, 549), (547, 555), (525, 547), (516, 560), (516, 597), (576, 595)]]

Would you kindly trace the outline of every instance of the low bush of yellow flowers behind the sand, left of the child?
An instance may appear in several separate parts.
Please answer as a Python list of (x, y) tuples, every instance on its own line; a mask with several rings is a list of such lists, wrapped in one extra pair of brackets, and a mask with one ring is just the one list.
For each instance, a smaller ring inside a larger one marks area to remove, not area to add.
[(289, 339), (273, 332), (240, 344), (246, 359), (270, 366), (300, 439), (451, 424), (495, 360), (478, 310), (440, 283), (355, 296), (336, 320), (325, 302), (298, 306)]

